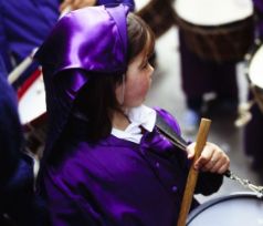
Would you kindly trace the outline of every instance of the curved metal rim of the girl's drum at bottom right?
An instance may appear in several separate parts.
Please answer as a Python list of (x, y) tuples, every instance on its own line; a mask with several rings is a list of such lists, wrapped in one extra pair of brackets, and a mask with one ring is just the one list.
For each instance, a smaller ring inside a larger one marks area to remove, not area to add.
[(253, 192), (239, 192), (239, 193), (233, 193), (233, 194), (230, 194), (230, 195), (224, 195), (224, 196), (212, 198), (210, 201), (204, 202), (203, 204), (201, 204), (197, 208), (194, 208), (188, 215), (187, 225), (190, 224), (198, 216), (199, 213), (202, 213), (207, 208), (209, 208), (209, 207), (211, 207), (211, 206), (213, 206), (218, 203), (221, 203), (222, 201), (224, 202), (224, 201), (229, 201), (229, 199), (234, 199), (236, 197), (248, 197), (248, 198), (257, 197), (259, 199), (262, 199), (256, 195), (256, 193), (253, 193)]

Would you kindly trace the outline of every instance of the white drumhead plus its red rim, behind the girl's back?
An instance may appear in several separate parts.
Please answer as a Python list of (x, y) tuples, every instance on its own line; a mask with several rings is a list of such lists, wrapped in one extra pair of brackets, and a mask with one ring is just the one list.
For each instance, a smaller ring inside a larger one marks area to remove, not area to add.
[(19, 90), (19, 115), (23, 125), (32, 123), (46, 112), (44, 82), (41, 71), (35, 71)]

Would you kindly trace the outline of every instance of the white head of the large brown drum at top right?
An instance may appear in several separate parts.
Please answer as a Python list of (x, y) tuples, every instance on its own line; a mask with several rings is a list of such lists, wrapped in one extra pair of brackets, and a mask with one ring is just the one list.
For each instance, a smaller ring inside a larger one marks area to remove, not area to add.
[(223, 25), (253, 14), (252, 0), (176, 0), (176, 12), (197, 25)]

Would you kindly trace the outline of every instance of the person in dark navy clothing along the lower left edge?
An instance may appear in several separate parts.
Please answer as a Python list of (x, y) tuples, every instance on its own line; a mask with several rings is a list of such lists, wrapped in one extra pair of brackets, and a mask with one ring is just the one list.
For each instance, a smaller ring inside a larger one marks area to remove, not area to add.
[(0, 225), (34, 226), (33, 160), (24, 154), (17, 97), (0, 58)]

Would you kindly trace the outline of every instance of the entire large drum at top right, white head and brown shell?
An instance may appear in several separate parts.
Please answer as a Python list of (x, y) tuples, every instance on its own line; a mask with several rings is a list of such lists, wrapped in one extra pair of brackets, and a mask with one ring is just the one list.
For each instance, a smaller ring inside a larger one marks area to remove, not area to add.
[(200, 59), (243, 60), (254, 38), (252, 0), (176, 0), (177, 23)]

